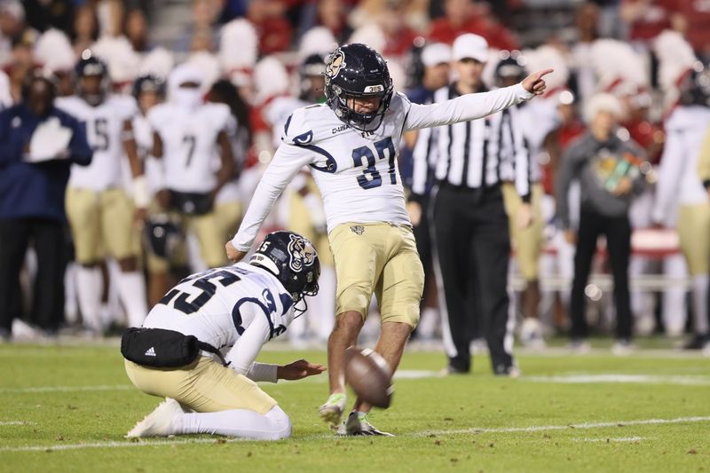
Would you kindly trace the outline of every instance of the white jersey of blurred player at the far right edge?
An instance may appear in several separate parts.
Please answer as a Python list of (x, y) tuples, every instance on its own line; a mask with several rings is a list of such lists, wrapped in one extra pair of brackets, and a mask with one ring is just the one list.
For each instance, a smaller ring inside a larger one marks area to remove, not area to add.
[(698, 157), (708, 125), (710, 108), (705, 106), (679, 106), (668, 117), (656, 184), (654, 222), (672, 225), (678, 205), (707, 202), (707, 192), (698, 174)]

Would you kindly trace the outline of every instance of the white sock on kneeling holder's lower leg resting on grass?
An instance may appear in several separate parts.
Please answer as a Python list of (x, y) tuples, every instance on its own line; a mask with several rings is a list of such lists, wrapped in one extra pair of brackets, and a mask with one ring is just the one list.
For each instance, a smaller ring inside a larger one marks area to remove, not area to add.
[(185, 414), (182, 424), (183, 434), (225, 435), (257, 440), (291, 437), (291, 420), (279, 406), (273, 406), (264, 415), (247, 409)]

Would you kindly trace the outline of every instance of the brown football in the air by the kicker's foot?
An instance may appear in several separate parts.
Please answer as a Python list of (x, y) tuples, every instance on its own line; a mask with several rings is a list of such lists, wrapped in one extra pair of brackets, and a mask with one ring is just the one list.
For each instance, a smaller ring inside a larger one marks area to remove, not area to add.
[(392, 374), (387, 362), (368, 348), (345, 351), (345, 381), (362, 400), (386, 409), (392, 400)]

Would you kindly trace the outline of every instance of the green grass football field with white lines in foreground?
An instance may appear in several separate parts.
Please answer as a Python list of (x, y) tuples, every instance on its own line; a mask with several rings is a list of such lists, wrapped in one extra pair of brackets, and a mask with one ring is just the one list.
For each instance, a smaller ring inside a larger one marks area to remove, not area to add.
[[(260, 360), (323, 351), (266, 351)], [(0, 345), (0, 471), (710, 471), (710, 358), (561, 349), (519, 354), (524, 376), (437, 377), (439, 352), (408, 352), (393, 406), (373, 423), (397, 438), (335, 438), (319, 421), (324, 375), (264, 384), (293, 438), (123, 438), (159, 399), (134, 389), (117, 345)]]

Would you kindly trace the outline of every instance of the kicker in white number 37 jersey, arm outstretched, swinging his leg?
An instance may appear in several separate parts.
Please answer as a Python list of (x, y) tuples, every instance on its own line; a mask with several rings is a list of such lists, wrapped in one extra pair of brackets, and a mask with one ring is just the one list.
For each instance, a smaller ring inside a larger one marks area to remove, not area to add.
[[(394, 92), (383, 57), (364, 44), (336, 49), (327, 60), (327, 103), (300, 108), (286, 122), (282, 144), (256, 188), (227, 256), (243, 258), (274, 201), (304, 165), (323, 196), (328, 240), (335, 257), (335, 327), (328, 339), (330, 397), (320, 416), (333, 427), (345, 409), (343, 356), (357, 343), (373, 293), (381, 314), (375, 351), (394, 372), (419, 320), (424, 273), (407, 217), (397, 167), (402, 133), (493, 114), (545, 90), (543, 76), (511, 87), (416, 105)], [(342, 435), (391, 435), (367, 421), (370, 407), (356, 400)]]

